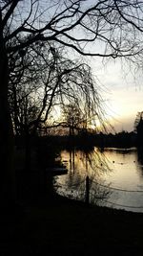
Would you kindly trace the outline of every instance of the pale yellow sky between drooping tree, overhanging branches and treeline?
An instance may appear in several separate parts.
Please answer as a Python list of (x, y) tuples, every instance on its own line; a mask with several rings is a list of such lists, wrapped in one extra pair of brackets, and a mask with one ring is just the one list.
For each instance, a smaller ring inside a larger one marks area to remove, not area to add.
[[(92, 70), (102, 83), (108, 119), (116, 131), (132, 131), (136, 113), (143, 110), (143, 74), (118, 62), (105, 66), (92, 61)], [(132, 75), (133, 73), (133, 75)]]

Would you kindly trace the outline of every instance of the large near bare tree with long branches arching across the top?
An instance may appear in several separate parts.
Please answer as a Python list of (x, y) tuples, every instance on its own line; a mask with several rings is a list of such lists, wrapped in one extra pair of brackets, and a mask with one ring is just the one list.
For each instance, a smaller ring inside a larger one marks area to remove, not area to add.
[(15, 53), (22, 58), (42, 41), (54, 41), (57, 47), (65, 45), (84, 56), (136, 56), (142, 51), (142, 14), (142, 1), (137, 0), (0, 1), (0, 166), (5, 166), (0, 186), (5, 202), (12, 197), (14, 176), (8, 101), (11, 58)]

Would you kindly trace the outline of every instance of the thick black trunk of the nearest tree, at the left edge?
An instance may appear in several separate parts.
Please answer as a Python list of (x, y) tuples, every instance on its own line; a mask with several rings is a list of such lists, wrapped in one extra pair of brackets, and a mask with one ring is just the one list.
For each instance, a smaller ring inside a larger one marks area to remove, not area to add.
[[(1, 27), (1, 26), (0, 26)], [(15, 200), (13, 168), (13, 131), (8, 101), (9, 67), (0, 28), (0, 204), (10, 206)]]

